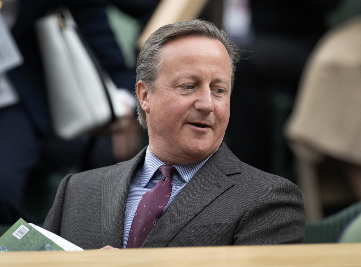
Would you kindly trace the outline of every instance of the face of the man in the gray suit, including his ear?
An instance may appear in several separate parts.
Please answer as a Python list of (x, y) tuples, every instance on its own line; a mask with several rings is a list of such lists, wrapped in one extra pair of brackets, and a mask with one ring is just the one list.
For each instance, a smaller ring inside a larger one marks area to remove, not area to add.
[(221, 145), (229, 121), (227, 50), (218, 40), (187, 36), (167, 43), (161, 59), (154, 90), (137, 85), (149, 149), (166, 164), (203, 160)]

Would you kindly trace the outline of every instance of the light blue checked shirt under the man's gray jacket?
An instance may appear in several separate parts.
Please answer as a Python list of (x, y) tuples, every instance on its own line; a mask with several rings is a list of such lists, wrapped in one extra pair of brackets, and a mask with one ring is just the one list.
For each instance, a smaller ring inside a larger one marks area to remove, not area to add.
[[(168, 208), (169, 204), (177, 196), (179, 191), (182, 190), (182, 188), (190, 181), (193, 175), (198, 172), (198, 170), (208, 159), (209, 157), (196, 163), (172, 165), (178, 170), (178, 173), (175, 173), (172, 176), (172, 193), (164, 210)], [(165, 163), (163, 161), (157, 159), (149, 151), (148, 146), (147, 152), (145, 153), (144, 164), (143, 166), (139, 166), (139, 168), (135, 171), (130, 183), (127, 205), (125, 208), (123, 248), (127, 246), (130, 226), (132, 224), (134, 213), (138, 207), (140, 198), (144, 195), (144, 193), (155, 187), (156, 183), (163, 178), (158, 169), (164, 164)]]

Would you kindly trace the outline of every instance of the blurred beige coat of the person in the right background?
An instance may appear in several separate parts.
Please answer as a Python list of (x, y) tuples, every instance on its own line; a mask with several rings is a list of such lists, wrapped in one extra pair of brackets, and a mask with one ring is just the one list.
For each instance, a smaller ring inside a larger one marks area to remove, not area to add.
[(302, 148), (361, 164), (361, 16), (327, 33), (306, 63), (285, 135)]

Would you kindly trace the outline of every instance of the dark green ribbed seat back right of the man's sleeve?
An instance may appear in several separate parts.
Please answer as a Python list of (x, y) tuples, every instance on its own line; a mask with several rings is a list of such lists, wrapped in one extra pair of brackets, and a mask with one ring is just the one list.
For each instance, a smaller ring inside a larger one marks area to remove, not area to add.
[(304, 243), (335, 243), (344, 227), (361, 214), (361, 202), (317, 222), (306, 222)]

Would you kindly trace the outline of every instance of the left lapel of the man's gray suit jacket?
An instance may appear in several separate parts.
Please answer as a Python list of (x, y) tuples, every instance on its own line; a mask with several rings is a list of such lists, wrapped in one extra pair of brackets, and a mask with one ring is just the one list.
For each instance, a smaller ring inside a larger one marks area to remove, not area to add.
[(133, 159), (108, 168), (101, 178), (101, 236), (103, 245), (123, 246), (124, 216), (131, 179), (144, 162), (146, 148)]

